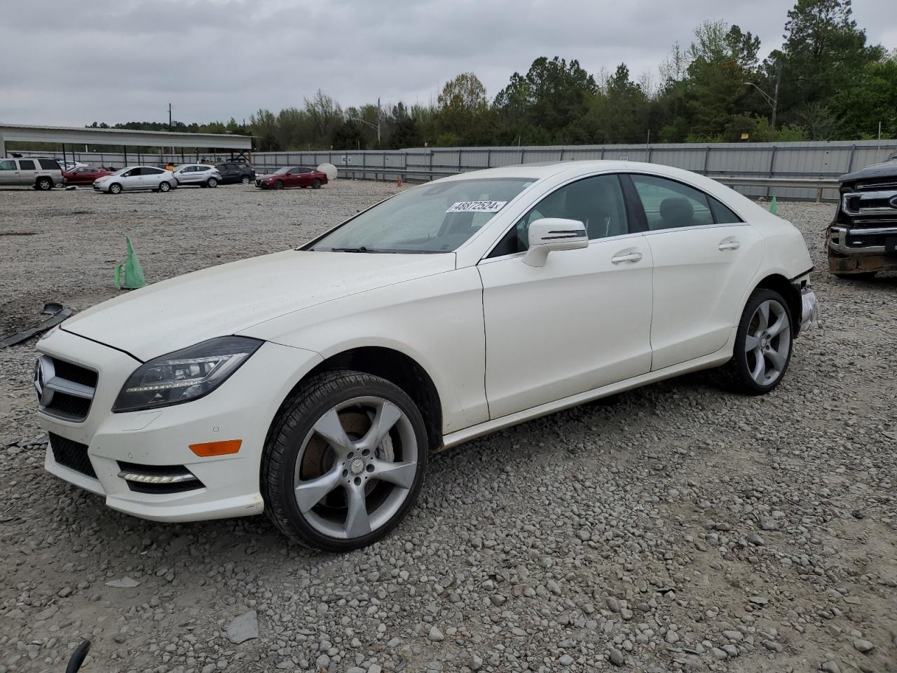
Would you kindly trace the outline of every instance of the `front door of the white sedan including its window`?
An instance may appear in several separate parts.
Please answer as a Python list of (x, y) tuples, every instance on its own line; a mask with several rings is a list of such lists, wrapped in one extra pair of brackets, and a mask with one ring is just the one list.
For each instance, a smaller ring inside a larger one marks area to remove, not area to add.
[[(588, 248), (524, 264), (528, 225), (542, 217), (585, 223)], [(650, 371), (651, 251), (630, 230), (618, 176), (544, 197), (478, 268), (491, 418)]]

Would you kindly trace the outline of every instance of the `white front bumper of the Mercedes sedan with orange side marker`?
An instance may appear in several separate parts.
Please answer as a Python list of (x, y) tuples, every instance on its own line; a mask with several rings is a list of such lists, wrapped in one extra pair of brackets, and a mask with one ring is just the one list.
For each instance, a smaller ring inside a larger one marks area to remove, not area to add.
[[(222, 519), (263, 511), (259, 472), (268, 428), (295, 383), (321, 360), (311, 351), (266, 343), (205, 398), (113, 414), (118, 390), (138, 361), (62, 329), (38, 347), (51, 357), (99, 372), (90, 412), (82, 422), (39, 412), (48, 433), (86, 447), (92, 468), (87, 472), (96, 478), (57, 461), (52, 437), (44, 461), (47, 471), (104, 496), (114, 510), (159, 521)], [(190, 444), (234, 439), (242, 440), (235, 454), (200, 458), (189, 449)], [(126, 466), (185, 468), (196, 476), (199, 487), (141, 492), (119, 476)]]

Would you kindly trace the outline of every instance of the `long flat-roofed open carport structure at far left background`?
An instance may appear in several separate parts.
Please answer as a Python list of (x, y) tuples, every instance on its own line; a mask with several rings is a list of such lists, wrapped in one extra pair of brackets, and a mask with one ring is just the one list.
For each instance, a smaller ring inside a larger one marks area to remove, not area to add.
[(231, 155), (234, 152), (248, 153), (252, 150), (251, 135), (135, 131), (128, 128), (35, 127), (0, 123), (0, 157), (6, 156), (6, 141), (62, 144), (63, 159), (65, 159), (66, 144), (115, 145), (124, 148), (125, 163), (127, 163), (128, 146), (179, 147), (182, 154), (186, 148), (224, 150), (230, 151)]

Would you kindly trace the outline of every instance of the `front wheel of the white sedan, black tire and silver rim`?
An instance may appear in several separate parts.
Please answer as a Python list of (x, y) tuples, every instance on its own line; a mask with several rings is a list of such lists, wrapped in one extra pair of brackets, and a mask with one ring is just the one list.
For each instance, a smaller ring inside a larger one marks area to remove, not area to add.
[(262, 459), (262, 494), (288, 538), (327, 551), (368, 546), (411, 509), (427, 468), (421, 412), (388, 380), (327, 371), (283, 404)]

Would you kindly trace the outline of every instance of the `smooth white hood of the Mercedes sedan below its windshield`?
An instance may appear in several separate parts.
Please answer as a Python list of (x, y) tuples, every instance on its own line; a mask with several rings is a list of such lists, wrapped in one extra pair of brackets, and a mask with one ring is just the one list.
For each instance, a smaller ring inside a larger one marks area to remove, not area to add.
[(286, 313), (454, 268), (454, 253), (284, 250), (148, 285), (78, 313), (62, 328), (145, 362)]

